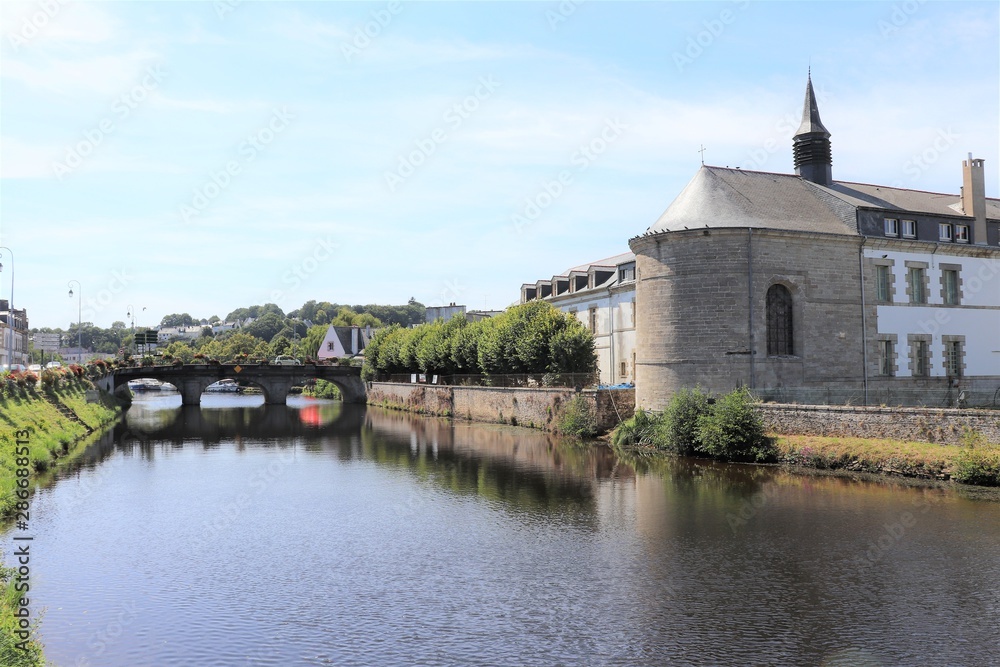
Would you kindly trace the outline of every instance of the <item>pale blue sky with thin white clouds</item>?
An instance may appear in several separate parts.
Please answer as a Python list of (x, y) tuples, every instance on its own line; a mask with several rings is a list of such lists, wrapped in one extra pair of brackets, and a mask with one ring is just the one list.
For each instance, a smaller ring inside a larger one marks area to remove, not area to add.
[(972, 152), (1000, 195), (996, 2), (0, 11), (0, 245), (32, 326), (76, 321), (69, 280), (100, 326), (506, 307), (627, 250), (702, 144), (792, 172), (810, 65), (834, 178), (957, 193)]

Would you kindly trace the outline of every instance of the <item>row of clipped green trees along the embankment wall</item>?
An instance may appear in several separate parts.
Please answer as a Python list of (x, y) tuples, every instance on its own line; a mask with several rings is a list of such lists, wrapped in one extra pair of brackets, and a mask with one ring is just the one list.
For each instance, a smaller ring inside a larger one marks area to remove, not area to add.
[(362, 375), (592, 373), (594, 337), (572, 315), (532, 301), (478, 322), (452, 318), (382, 329), (365, 349)]

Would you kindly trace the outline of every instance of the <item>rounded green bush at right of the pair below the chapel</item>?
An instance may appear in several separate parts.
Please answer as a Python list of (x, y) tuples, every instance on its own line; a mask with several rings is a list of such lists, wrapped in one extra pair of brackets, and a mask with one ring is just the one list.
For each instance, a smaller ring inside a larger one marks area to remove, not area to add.
[(694, 450), (726, 461), (774, 461), (777, 448), (746, 391), (726, 394), (698, 417)]

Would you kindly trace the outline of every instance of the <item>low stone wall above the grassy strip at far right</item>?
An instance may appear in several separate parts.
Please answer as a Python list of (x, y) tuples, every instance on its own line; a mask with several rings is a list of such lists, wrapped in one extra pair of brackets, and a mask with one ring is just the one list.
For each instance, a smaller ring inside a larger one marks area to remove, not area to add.
[(1000, 443), (1000, 411), (939, 408), (844, 407), (833, 405), (761, 406), (770, 430), (784, 434), (892, 438), (962, 444), (972, 429), (990, 442)]

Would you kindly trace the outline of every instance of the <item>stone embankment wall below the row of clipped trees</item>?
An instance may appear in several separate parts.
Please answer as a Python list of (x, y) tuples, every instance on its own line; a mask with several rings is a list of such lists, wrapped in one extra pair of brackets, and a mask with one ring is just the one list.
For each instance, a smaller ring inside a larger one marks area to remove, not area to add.
[[(421, 414), (458, 417), (470, 421), (557, 429), (562, 406), (577, 392), (572, 388), (503, 388), (448, 386), (401, 382), (373, 382), (368, 403)], [(632, 416), (635, 390), (586, 389), (579, 395), (590, 403), (598, 429), (614, 428)]]

